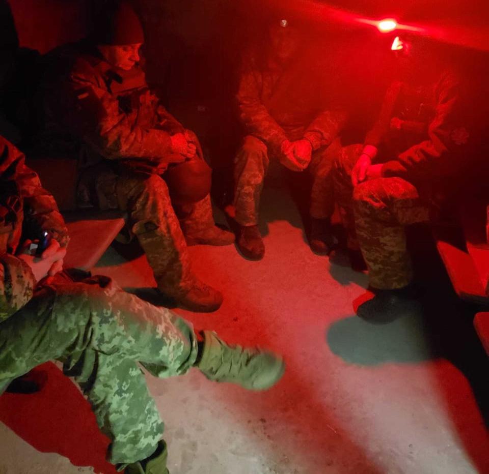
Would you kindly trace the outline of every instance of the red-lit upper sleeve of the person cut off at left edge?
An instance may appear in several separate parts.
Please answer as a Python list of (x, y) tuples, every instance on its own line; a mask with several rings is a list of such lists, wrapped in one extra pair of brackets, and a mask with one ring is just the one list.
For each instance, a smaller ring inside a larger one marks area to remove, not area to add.
[(0, 175), (15, 181), (23, 199), (25, 218), (34, 219), (40, 229), (49, 231), (65, 247), (68, 230), (55, 198), (41, 186), (38, 175), (25, 165), (24, 155), (4, 138), (0, 138)]

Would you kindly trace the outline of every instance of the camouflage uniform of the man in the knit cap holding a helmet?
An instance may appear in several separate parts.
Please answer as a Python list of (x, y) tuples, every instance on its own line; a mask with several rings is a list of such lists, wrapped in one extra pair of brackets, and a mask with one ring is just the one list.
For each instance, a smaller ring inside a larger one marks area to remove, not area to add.
[[(80, 153), (82, 200), (127, 212), (161, 291), (178, 296), (191, 289), (195, 277), (182, 230), (192, 237), (214, 226), (210, 198), (179, 222), (164, 173), (171, 135), (185, 129), (151, 93), (143, 70), (116, 71), (82, 42), (50, 53), (42, 97), (42, 142), (49, 153)], [(187, 134), (203, 159), (197, 137)]]

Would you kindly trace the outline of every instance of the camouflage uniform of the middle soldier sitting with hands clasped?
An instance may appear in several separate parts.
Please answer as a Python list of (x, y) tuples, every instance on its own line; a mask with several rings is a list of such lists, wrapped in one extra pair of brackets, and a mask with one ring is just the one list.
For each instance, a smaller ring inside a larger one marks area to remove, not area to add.
[(308, 57), (281, 67), (260, 61), (257, 54), (244, 57), (237, 100), (247, 136), (234, 168), (234, 205), (241, 225), (258, 223), (269, 160), (277, 158), (287, 139), (305, 138), (312, 145), (311, 216), (325, 219), (333, 214), (332, 168), (339, 145), (332, 143), (346, 114), (333, 103), (320, 66), (314, 69), (316, 60)]

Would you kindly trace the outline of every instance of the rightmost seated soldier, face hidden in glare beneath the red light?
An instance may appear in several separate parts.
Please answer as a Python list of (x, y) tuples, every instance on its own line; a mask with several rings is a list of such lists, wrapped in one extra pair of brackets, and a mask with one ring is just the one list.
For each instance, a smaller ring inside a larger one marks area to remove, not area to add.
[(400, 79), (364, 145), (345, 147), (335, 173), (352, 264), (361, 251), (374, 293), (357, 314), (375, 322), (418, 311), (404, 227), (436, 218), (475, 184), (479, 144), (476, 111), (444, 48), (403, 34), (391, 49)]

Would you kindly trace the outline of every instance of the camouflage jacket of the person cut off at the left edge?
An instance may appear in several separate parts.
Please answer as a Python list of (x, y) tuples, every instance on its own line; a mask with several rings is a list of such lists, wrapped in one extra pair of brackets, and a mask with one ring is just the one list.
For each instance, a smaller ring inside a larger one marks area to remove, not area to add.
[(25, 166), (24, 156), (0, 137), (0, 322), (33, 294), (34, 275), (15, 257), (22, 224), (27, 220), (51, 232), (62, 246), (67, 245), (68, 231), (54, 198), (41, 187), (37, 174)]

